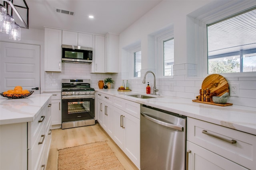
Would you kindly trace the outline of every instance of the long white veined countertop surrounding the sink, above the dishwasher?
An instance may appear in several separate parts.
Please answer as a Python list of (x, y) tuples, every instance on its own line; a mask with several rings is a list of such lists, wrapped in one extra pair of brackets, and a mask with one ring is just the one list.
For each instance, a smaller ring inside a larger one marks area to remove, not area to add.
[[(157, 96), (157, 98), (140, 99), (127, 94), (143, 94), (141, 92), (118, 92), (116, 89), (95, 89), (98, 92), (110, 94), (119, 98), (171, 111), (202, 121), (222, 125), (238, 131), (256, 135), (256, 108), (246, 106), (215, 106), (192, 102), (191, 99), (172, 96)], [(148, 95), (144, 93), (144, 95)]]

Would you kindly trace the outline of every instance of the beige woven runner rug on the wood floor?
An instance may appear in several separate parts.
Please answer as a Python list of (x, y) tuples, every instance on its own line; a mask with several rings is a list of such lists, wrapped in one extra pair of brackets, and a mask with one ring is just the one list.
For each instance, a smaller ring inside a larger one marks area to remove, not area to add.
[(58, 170), (125, 170), (104, 141), (58, 151)]

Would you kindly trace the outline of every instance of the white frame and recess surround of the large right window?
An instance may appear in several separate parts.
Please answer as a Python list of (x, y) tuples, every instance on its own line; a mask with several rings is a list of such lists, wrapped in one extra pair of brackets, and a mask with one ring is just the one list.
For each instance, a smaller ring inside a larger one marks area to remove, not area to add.
[[(208, 74), (208, 45), (207, 45), (207, 27), (209, 23), (221, 20), (228, 16), (234, 15), (256, 5), (255, 1), (248, 2), (214, 2), (204, 6), (200, 10), (187, 15), (187, 30), (194, 29), (194, 34), (187, 39), (187, 44), (197, 44), (193, 51), (188, 51), (197, 64), (197, 76), (206, 77)], [(206, 11), (207, 9), (207, 11)], [(236, 73), (220, 73), (224, 77), (251, 77), (255, 76), (255, 72), (236, 72)]]

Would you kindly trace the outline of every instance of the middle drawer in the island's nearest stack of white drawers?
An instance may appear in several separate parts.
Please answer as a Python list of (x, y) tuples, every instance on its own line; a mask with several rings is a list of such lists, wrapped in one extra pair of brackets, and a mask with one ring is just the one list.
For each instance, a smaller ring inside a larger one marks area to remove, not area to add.
[[(44, 126), (46, 122), (44, 122)], [(40, 162), (40, 157), (44, 153), (46, 145), (46, 132), (43, 127), (40, 129), (36, 137), (36, 141), (32, 147), (32, 149), (28, 149), (28, 169), (35, 170), (38, 166), (38, 162)]]

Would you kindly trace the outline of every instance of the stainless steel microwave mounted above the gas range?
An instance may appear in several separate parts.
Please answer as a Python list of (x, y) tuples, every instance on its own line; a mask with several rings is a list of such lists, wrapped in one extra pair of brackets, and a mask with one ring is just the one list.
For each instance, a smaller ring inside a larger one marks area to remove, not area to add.
[(62, 45), (62, 62), (92, 63), (92, 48), (73, 45)]

